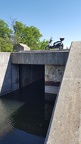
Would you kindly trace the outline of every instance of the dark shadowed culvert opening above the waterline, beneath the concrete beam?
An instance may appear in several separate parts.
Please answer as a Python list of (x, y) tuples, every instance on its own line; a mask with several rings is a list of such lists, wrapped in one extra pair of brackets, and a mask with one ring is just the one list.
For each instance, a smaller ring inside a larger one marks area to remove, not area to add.
[(19, 65), (19, 88), (42, 80), (44, 84), (44, 65)]

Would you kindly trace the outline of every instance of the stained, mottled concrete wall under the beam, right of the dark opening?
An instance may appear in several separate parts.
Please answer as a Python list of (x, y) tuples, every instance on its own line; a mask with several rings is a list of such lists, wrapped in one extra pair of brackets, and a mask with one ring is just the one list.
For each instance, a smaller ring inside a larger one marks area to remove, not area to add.
[(54, 101), (63, 78), (65, 65), (45, 65), (45, 97)]

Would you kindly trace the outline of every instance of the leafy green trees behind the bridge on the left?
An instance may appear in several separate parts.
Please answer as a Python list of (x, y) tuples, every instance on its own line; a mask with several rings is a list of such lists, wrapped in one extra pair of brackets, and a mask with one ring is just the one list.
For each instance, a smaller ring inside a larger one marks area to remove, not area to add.
[(27, 26), (19, 21), (11, 21), (9, 25), (0, 20), (0, 51), (13, 51), (13, 46), (18, 43), (26, 44), (31, 50), (43, 50), (46, 40), (40, 40), (42, 34), (35, 26)]

